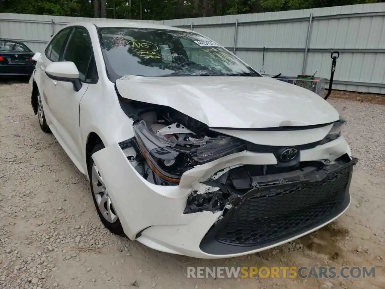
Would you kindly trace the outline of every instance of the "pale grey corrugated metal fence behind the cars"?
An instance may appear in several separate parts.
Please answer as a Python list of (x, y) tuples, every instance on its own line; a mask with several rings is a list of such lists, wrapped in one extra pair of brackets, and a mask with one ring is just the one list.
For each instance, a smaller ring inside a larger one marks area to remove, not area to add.
[[(92, 20), (0, 13), (0, 37), (41, 51), (62, 26)], [(197, 31), (267, 74), (329, 78), (338, 50), (333, 89), (385, 94), (385, 3), (143, 22)]]

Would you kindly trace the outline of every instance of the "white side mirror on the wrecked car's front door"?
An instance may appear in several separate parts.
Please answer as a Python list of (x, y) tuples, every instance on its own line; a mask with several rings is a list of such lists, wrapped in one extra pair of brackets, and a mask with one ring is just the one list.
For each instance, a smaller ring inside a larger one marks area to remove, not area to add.
[(79, 79), (79, 71), (74, 62), (52, 62), (45, 69), (45, 74), (52, 80), (71, 82), (75, 91), (79, 91), (80, 88), (82, 88), (82, 82)]

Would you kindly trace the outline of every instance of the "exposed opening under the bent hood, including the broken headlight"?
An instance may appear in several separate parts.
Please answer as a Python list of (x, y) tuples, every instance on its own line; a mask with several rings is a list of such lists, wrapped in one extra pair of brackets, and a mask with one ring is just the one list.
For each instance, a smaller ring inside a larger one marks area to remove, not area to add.
[(121, 106), (134, 119), (135, 135), (121, 147), (127, 157), (137, 161), (137, 171), (157, 185), (177, 185), (182, 174), (194, 166), (245, 149), (243, 140), (211, 131), (172, 108), (137, 101), (124, 101)]

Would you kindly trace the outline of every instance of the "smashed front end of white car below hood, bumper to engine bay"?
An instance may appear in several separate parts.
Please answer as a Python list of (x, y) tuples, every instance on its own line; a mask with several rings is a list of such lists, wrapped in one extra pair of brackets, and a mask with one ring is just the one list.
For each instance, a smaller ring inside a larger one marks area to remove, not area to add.
[[(115, 146), (95, 153), (95, 163), (130, 239), (196, 257), (242, 255), (308, 234), (350, 204), (357, 159), (340, 137), (344, 120), (315, 143), (267, 146), (219, 133), (167, 106), (120, 101), (133, 120), (133, 137), (117, 143), (120, 153)], [(308, 150), (325, 157), (308, 160)], [(143, 215), (138, 202), (151, 213)], [(179, 247), (189, 242), (194, 249)]]

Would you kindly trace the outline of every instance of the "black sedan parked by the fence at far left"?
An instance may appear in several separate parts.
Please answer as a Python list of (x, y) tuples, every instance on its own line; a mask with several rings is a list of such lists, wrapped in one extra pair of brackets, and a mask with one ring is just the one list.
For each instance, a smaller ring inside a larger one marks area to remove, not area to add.
[(30, 77), (35, 69), (34, 53), (22, 42), (0, 39), (0, 77)]

